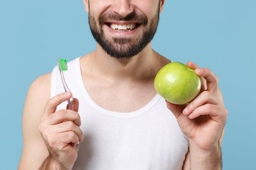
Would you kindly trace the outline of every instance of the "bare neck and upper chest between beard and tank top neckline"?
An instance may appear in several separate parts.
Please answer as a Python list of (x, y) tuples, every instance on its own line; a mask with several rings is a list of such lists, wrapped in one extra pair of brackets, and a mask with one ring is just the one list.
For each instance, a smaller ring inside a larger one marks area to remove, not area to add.
[(107, 110), (131, 112), (153, 99), (155, 75), (168, 62), (151, 44), (130, 59), (110, 57), (97, 46), (81, 57), (80, 66), (83, 84), (95, 103)]

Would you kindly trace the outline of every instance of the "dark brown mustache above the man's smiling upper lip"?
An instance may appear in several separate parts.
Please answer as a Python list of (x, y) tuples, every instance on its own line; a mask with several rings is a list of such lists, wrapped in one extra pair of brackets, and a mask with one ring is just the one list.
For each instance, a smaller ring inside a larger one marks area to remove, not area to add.
[(141, 22), (142, 24), (148, 24), (148, 18), (144, 14), (137, 14), (135, 12), (129, 13), (125, 17), (118, 15), (117, 13), (102, 13), (99, 15), (99, 23), (103, 24), (108, 20), (115, 21), (129, 21), (129, 22)]

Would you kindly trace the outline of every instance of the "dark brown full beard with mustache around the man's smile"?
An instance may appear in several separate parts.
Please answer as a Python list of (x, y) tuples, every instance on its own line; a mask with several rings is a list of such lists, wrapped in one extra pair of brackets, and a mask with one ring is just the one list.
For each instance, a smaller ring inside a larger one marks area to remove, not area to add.
[[(108, 38), (102, 29), (102, 26), (107, 20), (116, 21), (129, 21), (129, 22), (141, 22), (141, 26), (144, 26), (143, 32), (138, 38)], [(158, 11), (153, 16), (150, 23), (148, 18), (140, 13), (132, 12), (126, 17), (121, 17), (117, 13), (102, 13), (98, 18), (99, 24), (94, 16), (89, 12), (89, 24), (92, 35), (96, 42), (102, 47), (106, 53), (117, 59), (131, 58), (141, 52), (145, 46), (153, 39), (158, 22), (159, 22), (159, 7)]]

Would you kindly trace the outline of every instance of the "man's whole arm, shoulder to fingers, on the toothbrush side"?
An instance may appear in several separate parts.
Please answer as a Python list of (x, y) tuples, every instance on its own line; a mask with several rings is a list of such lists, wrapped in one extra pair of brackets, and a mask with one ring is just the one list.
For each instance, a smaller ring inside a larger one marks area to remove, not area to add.
[(22, 117), (23, 150), (18, 170), (71, 170), (77, 142), (83, 141), (79, 102), (74, 110), (56, 108), (72, 97), (61, 93), (50, 98), (51, 74), (40, 76), (29, 88)]

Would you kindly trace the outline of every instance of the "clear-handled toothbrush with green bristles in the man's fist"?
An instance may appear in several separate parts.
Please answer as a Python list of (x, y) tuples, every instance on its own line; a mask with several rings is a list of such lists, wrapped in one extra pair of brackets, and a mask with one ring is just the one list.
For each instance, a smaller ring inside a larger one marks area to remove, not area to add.
[[(65, 58), (58, 58), (58, 69), (61, 73), (61, 80), (62, 80), (62, 84), (63, 84), (64, 89), (65, 89), (65, 92), (70, 92), (70, 89), (67, 87), (67, 83), (65, 82), (64, 75), (63, 75), (63, 71), (67, 71), (67, 60)], [(68, 103), (69, 110), (74, 110), (74, 97), (73, 97), (73, 95), (70, 99), (67, 100), (67, 103)], [(76, 148), (77, 151), (79, 150), (79, 142), (77, 142), (75, 148)]]

